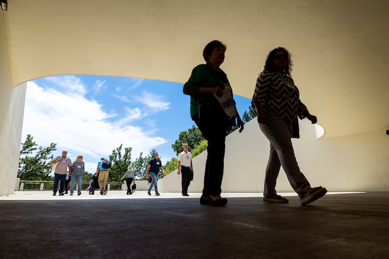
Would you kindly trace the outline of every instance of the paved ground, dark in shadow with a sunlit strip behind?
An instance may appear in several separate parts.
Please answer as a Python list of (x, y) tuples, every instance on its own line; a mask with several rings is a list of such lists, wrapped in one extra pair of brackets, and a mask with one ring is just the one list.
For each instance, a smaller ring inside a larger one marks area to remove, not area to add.
[(0, 258), (388, 258), (389, 192), (327, 194), (308, 206), (258, 193), (0, 197)]

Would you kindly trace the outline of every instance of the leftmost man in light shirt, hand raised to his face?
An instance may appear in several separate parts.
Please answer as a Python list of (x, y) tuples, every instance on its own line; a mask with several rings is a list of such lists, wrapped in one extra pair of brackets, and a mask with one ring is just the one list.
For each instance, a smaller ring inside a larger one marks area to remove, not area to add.
[(61, 181), (61, 184), (59, 186), (59, 196), (64, 195), (64, 189), (65, 189), (65, 179), (66, 174), (68, 173), (69, 169), (69, 175), (71, 175), (71, 160), (69, 157), (67, 157), (68, 151), (64, 150), (62, 151), (62, 156), (56, 156), (52, 164), (55, 165), (54, 170), (54, 186), (53, 186), (53, 196), (57, 195), (57, 188), (58, 188), (58, 182)]

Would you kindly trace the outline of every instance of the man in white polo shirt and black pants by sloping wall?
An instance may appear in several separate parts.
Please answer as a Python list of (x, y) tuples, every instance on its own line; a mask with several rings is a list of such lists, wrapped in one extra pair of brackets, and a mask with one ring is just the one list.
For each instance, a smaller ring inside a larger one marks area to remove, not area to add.
[(182, 145), (182, 151), (178, 156), (177, 174), (181, 173), (182, 196), (189, 196), (188, 187), (193, 180), (192, 154), (188, 151), (188, 144)]

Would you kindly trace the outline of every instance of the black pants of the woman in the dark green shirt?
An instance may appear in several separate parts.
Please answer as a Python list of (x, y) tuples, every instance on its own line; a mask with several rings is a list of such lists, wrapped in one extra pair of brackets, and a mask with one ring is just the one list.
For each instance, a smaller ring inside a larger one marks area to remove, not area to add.
[(218, 104), (199, 106), (198, 125), (204, 138), (208, 140), (208, 155), (205, 164), (203, 196), (221, 193), (224, 172), (224, 153), (228, 119)]

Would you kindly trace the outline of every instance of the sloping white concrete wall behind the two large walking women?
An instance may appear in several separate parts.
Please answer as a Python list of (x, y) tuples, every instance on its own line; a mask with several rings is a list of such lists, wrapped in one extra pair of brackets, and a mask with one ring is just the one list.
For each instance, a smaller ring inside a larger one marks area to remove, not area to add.
[[(319, 118), (320, 119), (320, 118)], [(314, 125), (300, 121), (300, 139), (293, 139), (297, 161), (312, 186), (323, 186), (329, 191), (388, 191), (389, 136), (385, 130), (318, 140)], [(262, 192), (269, 143), (256, 120), (245, 125), (245, 130), (233, 132), (226, 139), (224, 192)], [(195, 179), (189, 192), (201, 192), (206, 152), (193, 160)], [(161, 191), (181, 191), (177, 171), (160, 181)], [(293, 189), (283, 170), (277, 191)]]

